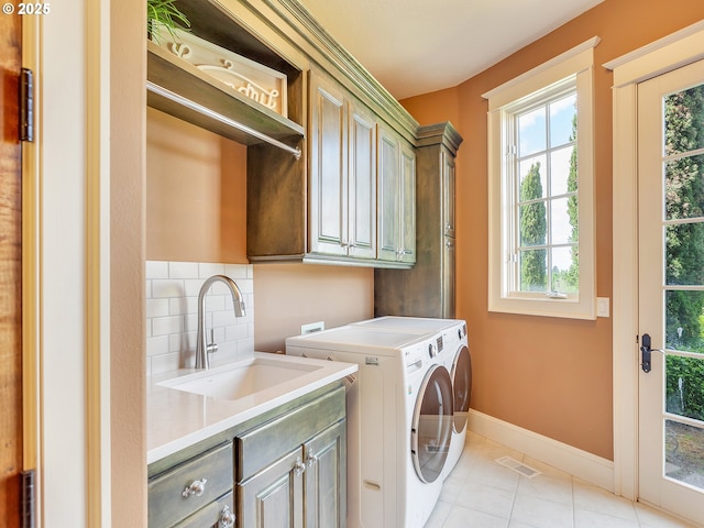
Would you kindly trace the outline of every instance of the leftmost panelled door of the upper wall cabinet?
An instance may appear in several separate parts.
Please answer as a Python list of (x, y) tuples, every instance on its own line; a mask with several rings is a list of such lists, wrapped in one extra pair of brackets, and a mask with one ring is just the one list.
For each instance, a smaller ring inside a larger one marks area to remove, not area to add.
[(346, 105), (343, 90), (310, 77), (310, 252), (346, 255)]

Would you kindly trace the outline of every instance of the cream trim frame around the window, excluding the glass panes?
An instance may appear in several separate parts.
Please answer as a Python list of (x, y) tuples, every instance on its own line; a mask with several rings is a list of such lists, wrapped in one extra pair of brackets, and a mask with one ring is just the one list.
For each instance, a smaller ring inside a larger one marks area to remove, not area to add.
[[(594, 112), (593, 66), (594, 46), (598, 37), (561, 54), (526, 74), (484, 94), (488, 100), (488, 310), (508, 314), (596, 318), (595, 279), (595, 209), (594, 209)], [(573, 78), (578, 107), (578, 224), (579, 224), (579, 293), (554, 297), (510, 288), (514, 271), (515, 227), (512, 208), (515, 184), (507, 167), (512, 163), (507, 151), (509, 128), (506, 116), (512, 107), (534, 100)]]

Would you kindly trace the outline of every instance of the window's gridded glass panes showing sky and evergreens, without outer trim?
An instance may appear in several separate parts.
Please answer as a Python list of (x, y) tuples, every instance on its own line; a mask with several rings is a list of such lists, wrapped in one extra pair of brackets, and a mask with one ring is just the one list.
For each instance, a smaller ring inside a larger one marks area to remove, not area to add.
[[(517, 131), (508, 172), (518, 178), (518, 290), (569, 296), (579, 290), (576, 88), (548, 95), (525, 113), (507, 112)], [(542, 184), (544, 180), (544, 185)]]

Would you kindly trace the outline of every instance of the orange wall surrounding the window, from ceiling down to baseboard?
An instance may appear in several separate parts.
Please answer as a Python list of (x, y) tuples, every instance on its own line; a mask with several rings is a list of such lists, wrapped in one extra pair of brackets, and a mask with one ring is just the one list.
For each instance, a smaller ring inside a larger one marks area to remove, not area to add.
[(487, 311), (487, 105), (481, 95), (595, 35), (602, 38), (594, 68), (596, 272), (597, 295), (610, 297), (612, 74), (602, 65), (702, 19), (701, 0), (606, 0), (453, 89), (402, 101), (421, 124), (450, 120), (464, 138), (457, 182), (457, 311), (470, 328), (474, 409), (613, 460), (612, 320)]

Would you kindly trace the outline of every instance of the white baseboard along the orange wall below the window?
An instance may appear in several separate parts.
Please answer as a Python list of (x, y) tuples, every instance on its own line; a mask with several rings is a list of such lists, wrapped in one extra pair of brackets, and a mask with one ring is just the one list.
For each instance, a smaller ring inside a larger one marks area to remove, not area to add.
[(614, 462), (470, 409), (470, 431), (614, 493)]

